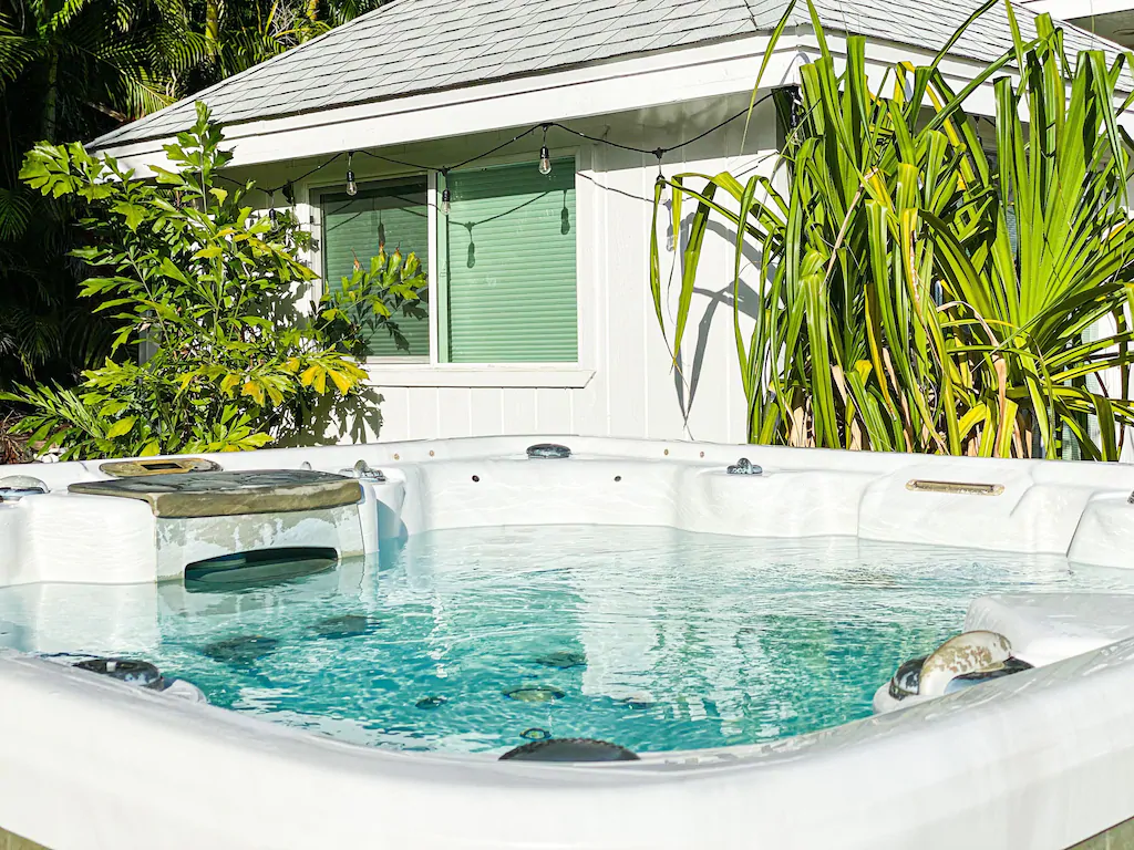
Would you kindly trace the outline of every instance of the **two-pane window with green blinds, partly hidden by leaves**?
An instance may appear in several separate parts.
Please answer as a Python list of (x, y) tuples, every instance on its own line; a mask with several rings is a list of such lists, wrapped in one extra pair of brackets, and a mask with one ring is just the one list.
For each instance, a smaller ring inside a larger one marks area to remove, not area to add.
[[(433, 202), (446, 184), (429, 187), (424, 177), (319, 201), (325, 286), (340, 287), (356, 262), (369, 267), (383, 245), (415, 252), (429, 277), (429, 304), (398, 322), (407, 345), (380, 330), (367, 354), (441, 364), (576, 363), (575, 161), (556, 160), (549, 175), (535, 162), (454, 171), (447, 186), (448, 215)], [(437, 312), (432, 345), (429, 309)]]

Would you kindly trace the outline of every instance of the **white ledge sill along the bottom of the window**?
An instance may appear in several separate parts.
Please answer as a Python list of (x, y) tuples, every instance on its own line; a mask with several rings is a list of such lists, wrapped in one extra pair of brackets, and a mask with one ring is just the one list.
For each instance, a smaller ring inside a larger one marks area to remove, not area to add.
[(528, 386), (582, 389), (594, 369), (570, 364), (516, 366), (432, 366), (367, 363), (364, 368), (374, 386)]

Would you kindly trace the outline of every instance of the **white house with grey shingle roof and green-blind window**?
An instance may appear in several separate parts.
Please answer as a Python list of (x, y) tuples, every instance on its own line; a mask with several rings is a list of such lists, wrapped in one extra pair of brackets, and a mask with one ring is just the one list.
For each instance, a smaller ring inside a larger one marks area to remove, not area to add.
[[(831, 48), (843, 50), (845, 33), (865, 35), (879, 75), (895, 59), (930, 60), (978, 5), (816, 0)], [(702, 261), (699, 320), (677, 372), (649, 290), (659, 161), (626, 148), (695, 139), (666, 153), (660, 168), (771, 172), (770, 102), (747, 130), (743, 117), (712, 128), (745, 110), (785, 8), (786, 0), (396, 0), (197, 99), (225, 126), (234, 177), (293, 181), (296, 210), (316, 236), (312, 267), (328, 280), (356, 255), (367, 262), (383, 240), (424, 258), (428, 317), (404, 325), (408, 351), (376, 340), (367, 364), (384, 398), (378, 439), (542, 432), (739, 442), (731, 237), (709, 235), (717, 253)], [(1021, 7), (1018, 18), (1025, 36), (1034, 34), (1034, 14)], [(816, 54), (807, 22), (801, 3), (765, 87), (793, 82)], [(1066, 42), (1076, 51), (1098, 46), (1099, 36), (1068, 26)], [(959, 87), (1010, 45), (997, 5), (942, 71)], [(991, 113), (991, 91), (970, 107)], [(177, 103), (94, 147), (135, 167), (160, 162), (161, 145), (192, 122), (193, 109)], [(566, 128), (547, 131), (552, 168), (543, 175), (541, 125), (550, 122)], [(682, 238), (669, 236), (667, 262)]]

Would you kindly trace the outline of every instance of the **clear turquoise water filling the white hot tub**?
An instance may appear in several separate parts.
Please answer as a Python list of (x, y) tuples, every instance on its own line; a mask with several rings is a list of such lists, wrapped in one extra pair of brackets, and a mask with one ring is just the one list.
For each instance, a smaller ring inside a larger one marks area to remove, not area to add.
[[(117, 609), (155, 618), (156, 638), (124, 628), (109, 649), (215, 705), (358, 743), (500, 753), (553, 736), (659, 751), (868, 716), (874, 689), (959, 631), (974, 596), (1131, 581), (1059, 558), (841, 538), (462, 529), (238, 594), (159, 589), (156, 613)], [(0, 618), (18, 624), (14, 590)]]

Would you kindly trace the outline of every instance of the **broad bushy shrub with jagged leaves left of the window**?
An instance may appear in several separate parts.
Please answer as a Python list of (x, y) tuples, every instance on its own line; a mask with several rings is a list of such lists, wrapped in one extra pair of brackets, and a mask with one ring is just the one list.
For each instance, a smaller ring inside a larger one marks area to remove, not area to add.
[(281, 308), (314, 277), (295, 257), (306, 235), (291, 216), (255, 218), (252, 184), (218, 185), (220, 141), (197, 104), (166, 147), (176, 170), (151, 167), (156, 185), (79, 144), (28, 154), (33, 188), (90, 204), (92, 244), (74, 254), (99, 275), (83, 292), (113, 311), (117, 354), (75, 390), (7, 396), (32, 409), (18, 426), (32, 442), (65, 458), (253, 449), (310, 439), (324, 396), (365, 402), (365, 373)]

